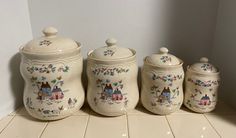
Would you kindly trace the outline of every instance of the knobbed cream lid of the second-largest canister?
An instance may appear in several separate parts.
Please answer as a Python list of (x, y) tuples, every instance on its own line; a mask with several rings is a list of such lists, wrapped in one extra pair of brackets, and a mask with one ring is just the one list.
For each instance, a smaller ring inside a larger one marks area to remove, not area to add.
[(114, 60), (133, 56), (133, 52), (124, 47), (117, 46), (117, 40), (109, 38), (106, 40), (107, 46), (97, 48), (88, 56), (99, 60)]

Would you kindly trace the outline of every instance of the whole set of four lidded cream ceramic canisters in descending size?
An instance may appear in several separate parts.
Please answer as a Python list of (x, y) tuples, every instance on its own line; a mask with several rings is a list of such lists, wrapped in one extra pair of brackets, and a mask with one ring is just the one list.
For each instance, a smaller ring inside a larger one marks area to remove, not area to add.
[[(81, 45), (58, 36), (53, 27), (45, 28), (43, 33), (20, 48), (20, 71), (25, 80), (23, 101), (31, 116), (57, 120), (75, 113), (84, 103)], [(134, 109), (139, 101), (136, 52), (118, 46), (115, 39), (108, 39), (106, 44), (88, 53), (87, 101), (99, 114), (119, 116)], [(144, 59), (141, 102), (147, 110), (167, 115), (179, 110), (183, 103), (199, 113), (214, 110), (218, 69), (207, 58), (188, 66), (186, 75), (182, 65), (183, 61), (164, 47)]]

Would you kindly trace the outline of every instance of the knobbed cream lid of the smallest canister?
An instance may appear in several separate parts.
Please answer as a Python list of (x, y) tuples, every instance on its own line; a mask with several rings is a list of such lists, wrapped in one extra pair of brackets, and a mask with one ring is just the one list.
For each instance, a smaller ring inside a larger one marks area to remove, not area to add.
[(209, 63), (208, 58), (202, 57), (200, 58), (200, 62), (195, 63), (189, 68), (193, 71), (200, 72), (200, 73), (217, 73), (218, 69)]

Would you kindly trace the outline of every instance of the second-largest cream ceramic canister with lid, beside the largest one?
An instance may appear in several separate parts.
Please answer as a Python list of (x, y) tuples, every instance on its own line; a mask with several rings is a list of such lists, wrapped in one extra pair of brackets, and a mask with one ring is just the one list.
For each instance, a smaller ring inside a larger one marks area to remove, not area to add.
[(113, 38), (106, 44), (88, 53), (87, 99), (95, 112), (119, 116), (134, 109), (139, 99), (136, 52)]

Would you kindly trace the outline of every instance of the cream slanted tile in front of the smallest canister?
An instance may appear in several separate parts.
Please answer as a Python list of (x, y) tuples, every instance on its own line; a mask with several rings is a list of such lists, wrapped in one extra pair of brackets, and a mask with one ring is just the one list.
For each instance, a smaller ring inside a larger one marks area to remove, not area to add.
[(167, 116), (176, 138), (218, 138), (219, 135), (201, 114), (175, 114)]

